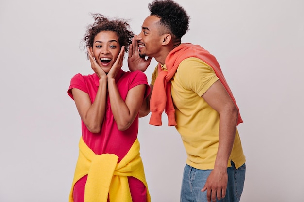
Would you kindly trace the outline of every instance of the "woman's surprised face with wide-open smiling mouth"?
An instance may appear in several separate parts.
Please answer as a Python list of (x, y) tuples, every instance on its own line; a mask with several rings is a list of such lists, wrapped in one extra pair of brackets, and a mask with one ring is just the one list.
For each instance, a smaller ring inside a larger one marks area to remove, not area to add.
[(120, 48), (115, 32), (101, 31), (95, 36), (90, 50), (101, 69), (108, 73), (118, 57)]

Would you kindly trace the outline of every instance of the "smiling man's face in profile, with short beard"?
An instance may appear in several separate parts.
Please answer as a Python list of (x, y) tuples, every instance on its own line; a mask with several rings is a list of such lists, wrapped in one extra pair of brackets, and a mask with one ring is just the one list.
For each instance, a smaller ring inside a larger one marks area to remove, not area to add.
[(150, 56), (157, 58), (162, 48), (162, 26), (159, 24), (159, 17), (148, 16), (141, 27), (141, 32), (135, 38), (138, 43), (140, 57)]

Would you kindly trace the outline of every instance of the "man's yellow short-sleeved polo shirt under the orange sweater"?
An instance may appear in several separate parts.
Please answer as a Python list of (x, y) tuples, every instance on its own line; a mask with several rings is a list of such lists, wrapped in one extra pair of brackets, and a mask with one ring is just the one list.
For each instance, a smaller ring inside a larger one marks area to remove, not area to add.
[[(166, 65), (163, 68), (166, 70)], [(157, 67), (152, 74), (152, 85), (156, 77)], [(197, 169), (213, 169), (218, 151), (219, 113), (201, 97), (218, 79), (214, 70), (198, 58), (183, 60), (171, 79), (176, 129), (186, 149), (186, 163)], [(236, 168), (245, 163), (237, 129), (230, 159)]]

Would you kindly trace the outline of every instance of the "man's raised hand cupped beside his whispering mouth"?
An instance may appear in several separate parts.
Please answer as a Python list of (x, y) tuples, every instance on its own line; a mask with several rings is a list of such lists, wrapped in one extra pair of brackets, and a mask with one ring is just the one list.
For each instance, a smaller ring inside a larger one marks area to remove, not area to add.
[(136, 35), (132, 39), (132, 44), (130, 44), (129, 48), (129, 56), (128, 56), (128, 66), (131, 72), (135, 70), (140, 70), (142, 72), (146, 71), (148, 68), (152, 57), (148, 57), (147, 60), (145, 58), (141, 58), (139, 56), (138, 51), (138, 43), (135, 40)]

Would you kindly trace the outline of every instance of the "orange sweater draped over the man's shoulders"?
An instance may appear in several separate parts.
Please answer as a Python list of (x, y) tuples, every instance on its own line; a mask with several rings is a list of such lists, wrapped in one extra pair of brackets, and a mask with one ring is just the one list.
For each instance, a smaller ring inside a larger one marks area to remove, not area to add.
[[(231, 99), (235, 103), (237, 110), (239, 108), (236, 105), (236, 100), (227, 84), (227, 81), (220, 69), (220, 64), (217, 59), (199, 45), (193, 45), (190, 43), (183, 43), (178, 47), (175, 47), (169, 52), (165, 64), (168, 71), (164, 71), (161, 68), (160, 63), (158, 64), (158, 76), (155, 80), (151, 100), (150, 100), (150, 111), (151, 117), (149, 124), (162, 125), (161, 114), (165, 110), (168, 115), (168, 125), (175, 126), (175, 109), (171, 97), (171, 78), (174, 76), (179, 64), (186, 58), (195, 57), (206, 62), (220, 79), (221, 83), (225, 87), (226, 91), (230, 95)], [(243, 120), (238, 114), (237, 125), (242, 123)]]

